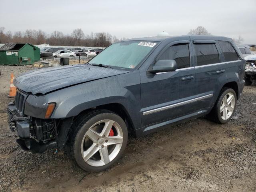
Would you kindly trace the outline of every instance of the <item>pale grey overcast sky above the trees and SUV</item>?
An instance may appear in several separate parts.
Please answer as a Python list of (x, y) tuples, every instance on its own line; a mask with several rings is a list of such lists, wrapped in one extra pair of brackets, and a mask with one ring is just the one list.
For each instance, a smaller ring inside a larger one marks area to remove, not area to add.
[(204, 26), (213, 35), (256, 44), (256, 0), (0, 0), (6, 31), (41, 29), (71, 34), (75, 28), (118, 38), (187, 34)]

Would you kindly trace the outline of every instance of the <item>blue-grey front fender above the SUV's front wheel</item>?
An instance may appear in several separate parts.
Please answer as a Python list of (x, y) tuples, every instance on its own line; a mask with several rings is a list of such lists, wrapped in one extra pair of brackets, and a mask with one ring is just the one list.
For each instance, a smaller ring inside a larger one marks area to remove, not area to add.
[(140, 122), (135, 124), (141, 125), (138, 71), (70, 86), (47, 94), (46, 98), (48, 102), (56, 102), (51, 118), (68, 118), (89, 108), (118, 103), (133, 122)]

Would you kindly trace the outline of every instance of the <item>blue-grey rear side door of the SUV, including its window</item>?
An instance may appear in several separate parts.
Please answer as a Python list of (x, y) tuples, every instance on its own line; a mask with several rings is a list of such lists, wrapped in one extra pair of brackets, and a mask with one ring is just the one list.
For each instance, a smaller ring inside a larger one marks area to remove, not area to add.
[(208, 110), (226, 82), (225, 64), (221, 62), (220, 48), (215, 40), (192, 40), (196, 60), (195, 97), (197, 110)]

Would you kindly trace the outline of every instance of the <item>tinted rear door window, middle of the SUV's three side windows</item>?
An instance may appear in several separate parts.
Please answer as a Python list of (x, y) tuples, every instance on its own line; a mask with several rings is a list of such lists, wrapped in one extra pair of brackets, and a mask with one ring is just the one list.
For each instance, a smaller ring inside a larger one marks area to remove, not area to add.
[(215, 44), (194, 44), (197, 66), (219, 63), (219, 54)]

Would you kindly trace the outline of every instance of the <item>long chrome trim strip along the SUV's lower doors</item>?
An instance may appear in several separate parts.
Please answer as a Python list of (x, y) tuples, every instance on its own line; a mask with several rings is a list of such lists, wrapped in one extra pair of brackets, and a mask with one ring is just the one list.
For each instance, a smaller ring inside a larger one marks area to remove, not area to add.
[(168, 106), (164, 106), (164, 107), (148, 110), (148, 111), (143, 112), (143, 115), (148, 115), (148, 114), (160, 112), (160, 111), (163, 111), (163, 110), (167, 110), (167, 109), (170, 109), (170, 108), (186, 105), (186, 104), (189, 104), (189, 103), (192, 103), (192, 102), (196, 102), (196, 101), (200, 101), (200, 100), (203, 100), (203, 99), (206, 99), (206, 98), (211, 98), (212, 96), (213, 96), (213, 93), (212, 94), (208, 94), (208, 95), (204, 95), (204, 96), (200, 96), (200, 97), (197, 97), (197, 98), (194, 98), (194, 99), (182, 101), (182, 102), (179, 102), (179, 103), (171, 104), (171, 105), (168, 105)]

